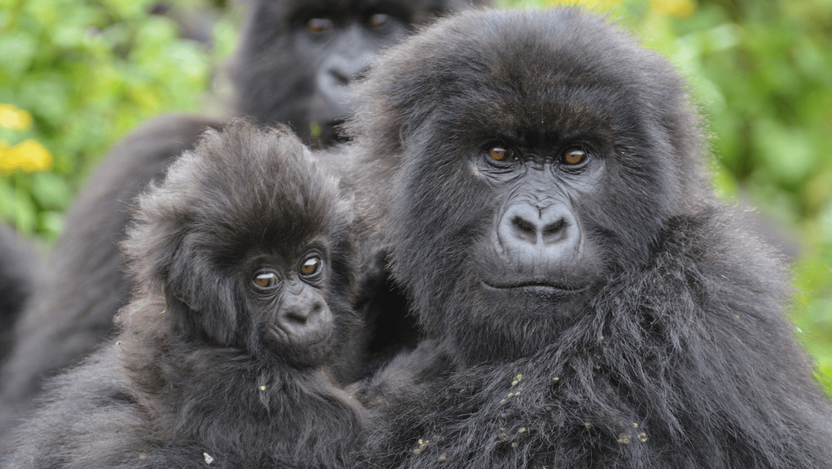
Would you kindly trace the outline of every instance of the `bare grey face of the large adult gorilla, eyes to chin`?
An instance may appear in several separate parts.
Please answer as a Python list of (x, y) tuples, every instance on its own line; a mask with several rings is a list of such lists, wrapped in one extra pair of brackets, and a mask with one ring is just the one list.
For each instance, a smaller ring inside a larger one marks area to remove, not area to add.
[(498, 202), (472, 247), (471, 291), (483, 304), (513, 305), (521, 317), (570, 316), (600, 268), (575, 205), (592, 197), (604, 164), (591, 142), (517, 140), (489, 142), (468, 158)]

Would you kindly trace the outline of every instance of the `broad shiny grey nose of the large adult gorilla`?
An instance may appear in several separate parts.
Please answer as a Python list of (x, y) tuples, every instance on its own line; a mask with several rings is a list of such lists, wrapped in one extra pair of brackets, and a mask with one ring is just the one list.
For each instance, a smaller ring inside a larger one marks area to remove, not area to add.
[(559, 202), (546, 207), (518, 202), (504, 213), (498, 232), (504, 251), (526, 252), (544, 262), (577, 250), (580, 242), (572, 211)]

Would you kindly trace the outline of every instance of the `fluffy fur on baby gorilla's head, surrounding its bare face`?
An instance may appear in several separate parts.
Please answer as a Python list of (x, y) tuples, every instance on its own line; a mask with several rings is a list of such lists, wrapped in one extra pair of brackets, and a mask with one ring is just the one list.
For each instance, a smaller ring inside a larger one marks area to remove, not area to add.
[(122, 244), (138, 296), (164, 297), (176, 325), (192, 337), (260, 353), (242, 292), (250, 282), (240, 262), (252, 252), (295, 255), (310, 240), (327, 240), (332, 259), (326, 286), (343, 341), (353, 324), (354, 270), (349, 202), (338, 182), (315, 168), (286, 127), (261, 133), (235, 122), (206, 132), (165, 182), (142, 194)]

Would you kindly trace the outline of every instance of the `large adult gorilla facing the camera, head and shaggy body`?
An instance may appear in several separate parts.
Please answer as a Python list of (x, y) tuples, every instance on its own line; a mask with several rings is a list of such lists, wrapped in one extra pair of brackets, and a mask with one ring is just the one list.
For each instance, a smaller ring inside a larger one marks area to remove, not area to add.
[(465, 12), (361, 86), (364, 236), (434, 337), (369, 382), (370, 463), (832, 467), (783, 262), (665, 60), (576, 9)]

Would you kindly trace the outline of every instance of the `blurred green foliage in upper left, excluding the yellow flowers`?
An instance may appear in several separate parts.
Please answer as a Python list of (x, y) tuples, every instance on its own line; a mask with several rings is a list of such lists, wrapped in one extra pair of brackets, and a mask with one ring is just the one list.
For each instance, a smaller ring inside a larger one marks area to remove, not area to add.
[[(189, 7), (201, 7), (191, 0)], [(54, 156), (51, 172), (0, 176), (0, 217), (18, 231), (57, 236), (61, 213), (94, 162), (141, 120), (192, 111), (218, 59), (180, 37), (150, 0), (0, 0), (0, 103), (34, 125), (0, 127), (7, 146), (29, 138)], [(216, 49), (233, 47), (219, 22)]]

